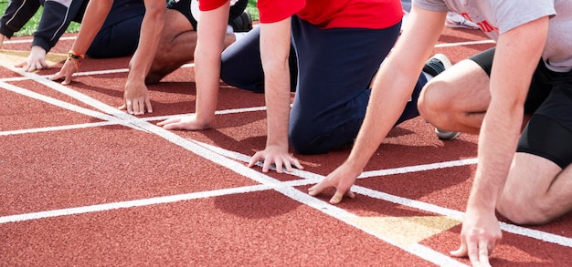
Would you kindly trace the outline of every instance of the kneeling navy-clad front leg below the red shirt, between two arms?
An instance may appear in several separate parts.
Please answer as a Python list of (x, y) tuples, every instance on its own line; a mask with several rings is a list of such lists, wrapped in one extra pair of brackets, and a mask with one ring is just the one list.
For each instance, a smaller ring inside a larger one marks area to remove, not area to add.
[(299, 79), (291, 109), (291, 147), (326, 153), (353, 142), (365, 117), (369, 84), (400, 26), (323, 30), (292, 18)]

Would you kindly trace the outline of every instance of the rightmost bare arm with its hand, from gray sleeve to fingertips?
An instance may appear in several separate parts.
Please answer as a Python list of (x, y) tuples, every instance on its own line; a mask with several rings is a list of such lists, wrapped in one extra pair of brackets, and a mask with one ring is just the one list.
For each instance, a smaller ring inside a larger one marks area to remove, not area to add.
[(469, 255), (473, 265), (489, 266), (488, 256), (502, 233), (495, 217), (524, 114), (530, 80), (545, 46), (548, 17), (499, 36), (491, 74), (492, 100), (482, 122), (479, 162), (455, 256)]

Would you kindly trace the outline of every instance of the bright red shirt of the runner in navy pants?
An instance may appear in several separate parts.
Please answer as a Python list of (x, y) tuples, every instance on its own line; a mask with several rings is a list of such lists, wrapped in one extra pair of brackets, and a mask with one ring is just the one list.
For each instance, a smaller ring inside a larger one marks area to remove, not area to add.
[[(212, 10), (228, 0), (198, 1), (201, 10)], [(260, 23), (281, 21), (291, 15), (321, 28), (357, 27), (381, 29), (394, 26), (403, 16), (401, 0), (259, 0)]]

